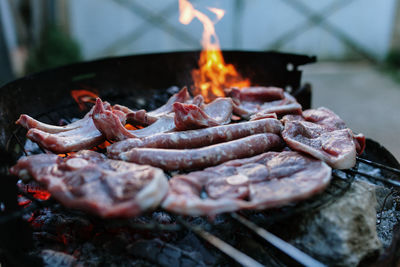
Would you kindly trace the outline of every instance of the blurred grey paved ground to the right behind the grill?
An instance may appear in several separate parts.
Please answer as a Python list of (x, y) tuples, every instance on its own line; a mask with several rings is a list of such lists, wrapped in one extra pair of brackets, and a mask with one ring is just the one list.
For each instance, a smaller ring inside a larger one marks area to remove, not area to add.
[(364, 62), (321, 62), (302, 69), (303, 82), (313, 87), (314, 108), (330, 108), (400, 161), (400, 83)]

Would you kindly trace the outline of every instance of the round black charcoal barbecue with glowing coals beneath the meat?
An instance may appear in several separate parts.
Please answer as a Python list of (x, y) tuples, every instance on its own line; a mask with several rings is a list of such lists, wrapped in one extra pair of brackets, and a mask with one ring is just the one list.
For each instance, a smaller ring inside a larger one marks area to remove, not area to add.
[[(191, 70), (197, 68), (199, 54), (191, 51), (102, 59), (30, 75), (1, 88), (0, 146), (3, 158), (8, 159), (0, 166), (2, 264), (322, 265), (329, 262), (310, 257), (278, 237), (286, 237), (285, 221), (334, 202), (355, 179), (380, 184), (397, 199), (400, 165), (390, 152), (370, 139), (356, 167), (334, 170), (334, 179), (323, 194), (279, 209), (223, 214), (211, 221), (161, 210), (129, 220), (102, 220), (65, 209), (51, 198), (38, 197), (38, 185), (20, 183), (18, 189), (15, 187), (16, 178), (9, 177), (7, 169), (23, 155), (45, 152), (26, 140), (26, 131), (14, 124), (20, 114), (50, 124), (80, 118), (87, 110), (79, 109), (71, 90), (95, 92), (112, 104), (154, 109), (176, 92), (171, 86), (193, 84)], [(315, 62), (315, 57), (240, 51), (225, 51), (223, 55), (253, 85), (285, 88), (304, 109), (310, 108), (311, 86), (301, 84), (299, 67)], [(91, 105), (80, 100), (81, 104)], [(102, 147), (97, 149), (104, 151)], [(389, 195), (385, 202), (388, 199)], [(392, 234), (392, 229), (387, 231)], [(397, 235), (399, 231), (394, 231), (392, 245), (380, 256), (374, 255), (375, 262), (397, 262)], [(101, 251), (109, 255), (102, 255), (96, 262), (99, 255), (87, 244), (104, 246)]]

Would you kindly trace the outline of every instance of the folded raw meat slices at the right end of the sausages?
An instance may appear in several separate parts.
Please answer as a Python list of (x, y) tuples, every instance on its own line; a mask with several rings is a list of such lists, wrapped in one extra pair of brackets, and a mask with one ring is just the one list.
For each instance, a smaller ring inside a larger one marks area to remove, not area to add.
[(287, 145), (321, 159), (337, 169), (351, 168), (365, 137), (355, 136), (339, 116), (327, 108), (310, 109), (303, 116), (285, 116), (282, 137)]

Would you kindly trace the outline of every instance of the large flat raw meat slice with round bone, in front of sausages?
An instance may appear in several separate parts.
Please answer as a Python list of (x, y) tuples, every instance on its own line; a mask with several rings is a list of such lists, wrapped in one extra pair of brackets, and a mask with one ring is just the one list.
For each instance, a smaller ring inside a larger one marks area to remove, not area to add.
[(323, 191), (330, 179), (331, 168), (320, 160), (294, 151), (267, 152), (176, 175), (161, 205), (193, 216), (276, 208)]

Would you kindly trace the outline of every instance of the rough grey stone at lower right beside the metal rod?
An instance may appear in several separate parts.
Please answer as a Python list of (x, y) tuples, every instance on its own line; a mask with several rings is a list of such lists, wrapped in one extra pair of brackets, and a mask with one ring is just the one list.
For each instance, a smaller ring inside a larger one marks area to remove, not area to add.
[(375, 186), (354, 181), (342, 197), (301, 218), (290, 242), (330, 266), (357, 266), (382, 250), (376, 203)]

